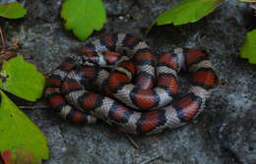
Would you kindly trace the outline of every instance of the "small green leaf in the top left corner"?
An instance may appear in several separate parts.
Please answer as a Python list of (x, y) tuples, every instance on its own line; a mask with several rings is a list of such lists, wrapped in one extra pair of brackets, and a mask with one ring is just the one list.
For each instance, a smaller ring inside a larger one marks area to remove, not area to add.
[(26, 15), (27, 11), (19, 2), (0, 4), (0, 16), (7, 19), (19, 19)]

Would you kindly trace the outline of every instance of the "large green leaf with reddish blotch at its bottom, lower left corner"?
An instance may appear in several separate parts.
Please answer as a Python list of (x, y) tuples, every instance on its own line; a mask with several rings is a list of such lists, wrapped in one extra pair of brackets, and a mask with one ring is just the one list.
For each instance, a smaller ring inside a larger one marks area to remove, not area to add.
[[(48, 158), (47, 140), (31, 120), (0, 91), (0, 151), (4, 159), (29, 160), (37, 164), (41, 159)], [(23, 154), (21, 154), (22, 151)], [(20, 162), (22, 163), (22, 162)], [(33, 164), (32, 163), (32, 164)]]

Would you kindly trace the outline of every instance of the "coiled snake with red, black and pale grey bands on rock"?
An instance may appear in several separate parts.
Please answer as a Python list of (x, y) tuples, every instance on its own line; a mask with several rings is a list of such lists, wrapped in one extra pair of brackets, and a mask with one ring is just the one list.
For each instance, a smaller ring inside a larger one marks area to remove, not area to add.
[[(191, 82), (176, 97), (180, 70), (188, 71)], [(217, 83), (201, 51), (175, 48), (156, 60), (140, 38), (106, 33), (73, 51), (48, 77), (45, 94), (49, 106), (71, 122), (100, 119), (128, 134), (149, 135), (195, 118)]]

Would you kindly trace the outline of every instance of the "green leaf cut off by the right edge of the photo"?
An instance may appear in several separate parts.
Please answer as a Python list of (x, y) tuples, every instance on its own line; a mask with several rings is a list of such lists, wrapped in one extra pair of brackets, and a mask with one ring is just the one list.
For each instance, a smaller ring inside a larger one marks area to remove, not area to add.
[(256, 64), (256, 29), (246, 34), (246, 39), (240, 49), (240, 56)]

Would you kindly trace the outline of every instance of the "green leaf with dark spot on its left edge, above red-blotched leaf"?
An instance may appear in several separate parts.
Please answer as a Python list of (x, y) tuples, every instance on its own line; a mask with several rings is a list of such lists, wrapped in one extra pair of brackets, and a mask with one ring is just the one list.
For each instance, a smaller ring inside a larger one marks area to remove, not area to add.
[(22, 56), (4, 62), (0, 78), (0, 88), (29, 101), (41, 97), (45, 84), (44, 77)]

